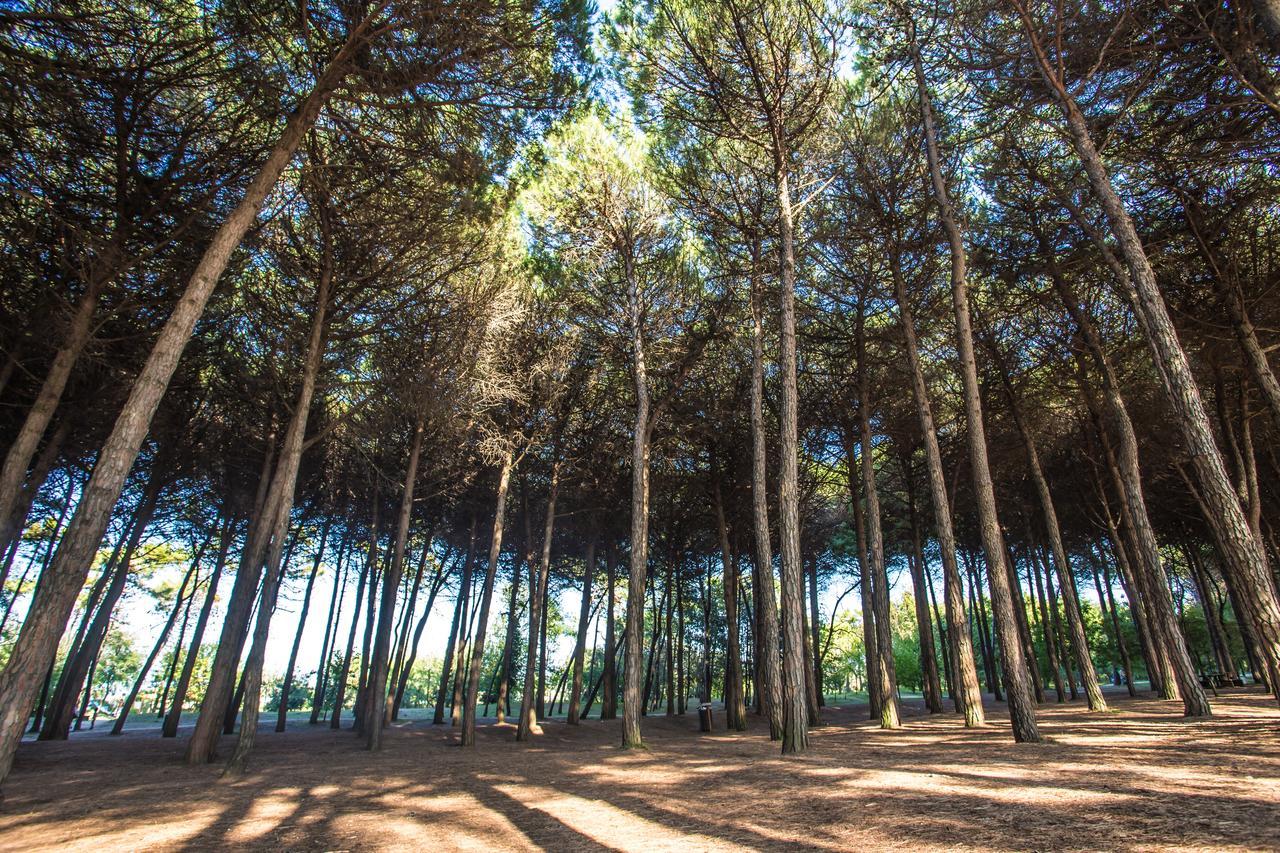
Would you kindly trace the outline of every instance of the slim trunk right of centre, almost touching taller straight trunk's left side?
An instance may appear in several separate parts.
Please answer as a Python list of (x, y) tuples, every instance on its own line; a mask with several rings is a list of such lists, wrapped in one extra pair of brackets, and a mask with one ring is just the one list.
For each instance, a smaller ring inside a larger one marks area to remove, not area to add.
[[(759, 264), (756, 264), (756, 268)], [(782, 739), (782, 671), (778, 660), (778, 602), (773, 589), (769, 543), (769, 494), (764, 432), (764, 319), (758, 277), (751, 277), (751, 517), (755, 533), (755, 590), (759, 637), (755, 658), (760, 671), (760, 710), (769, 719), (769, 740)]]

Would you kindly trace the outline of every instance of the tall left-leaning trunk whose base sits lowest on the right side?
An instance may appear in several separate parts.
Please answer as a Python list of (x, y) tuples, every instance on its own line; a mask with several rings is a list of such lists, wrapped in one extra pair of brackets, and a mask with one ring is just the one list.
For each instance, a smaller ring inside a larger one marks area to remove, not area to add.
[(996, 634), (1000, 638), (1000, 663), (1009, 698), (1009, 716), (1012, 721), (1014, 740), (1019, 743), (1038, 742), (1041, 735), (1036, 726), (1036, 702), (1028, 683), (1027, 661), (1019, 642), (1012, 592), (1009, 587), (1009, 571), (1005, 565), (1005, 543), (1000, 532), (1000, 519), (996, 515), (996, 492), (987, 462), (987, 434), (982, 423), (978, 366), (973, 353), (973, 323), (969, 316), (969, 291), (965, 282), (964, 238), (947, 197), (942, 161), (933, 129), (933, 110), (923, 86), (920, 87), (920, 111), (924, 118), (925, 151), (933, 196), (951, 252), (951, 300), (955, 310), (960, 378), (964, 384), (965, 421), (969, 425), (969, 462), (973, 469), (978, 528), (982, 534), (982, 547), (987, 555), (987, 580), (991, 584), (991, 603), (996, 620)]

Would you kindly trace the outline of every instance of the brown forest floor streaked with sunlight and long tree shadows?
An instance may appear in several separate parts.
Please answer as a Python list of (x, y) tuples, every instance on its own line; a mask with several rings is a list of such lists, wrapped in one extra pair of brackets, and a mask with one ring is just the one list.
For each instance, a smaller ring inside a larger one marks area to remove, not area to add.
[(303, 722), (262, 731), (234, 783), (184, 766), (182, 738), (92, 733), (22, 745), (0, 850), (1280, 849), (1274, 701), (1224, 693), (1189, 721), (1110, 699), (1043, 707), (1051, 740), (1023, 745), (989, 701), (983, 730), (913, 703), (896, 731), (827, 708), (794, 758), (754, 717), (704, 735), (696, 713), (650, 716), (648, 749), (630, 752), (621, 721), (549, 722), (527, 745), (481, 725), (470, 751), (407, 721), (378, 754)]

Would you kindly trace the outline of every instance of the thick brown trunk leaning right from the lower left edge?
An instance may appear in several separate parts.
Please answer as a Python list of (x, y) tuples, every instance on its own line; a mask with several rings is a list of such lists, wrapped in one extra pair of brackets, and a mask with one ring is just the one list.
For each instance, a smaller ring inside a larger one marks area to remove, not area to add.
[(9, 654), (4, 672), (0, 674), (0, 780), (9, 775), (13, 766), (13, 756), (22, 739), (27, 715), (40, 690), (40, 680), (58, 652), (58, 639), (76, 597), (84, 585), (93, 552), (110, 521), (111, 507), (120, 497), (124, 480), (146, 439), (160, 398), (169, 388), (169, 380), (191, 339), (196, 320), (204, 314), (205, 305), (232, 252), (253, 225), (268, 193), (293, 159), (302, 137), (315, 123), (329, 96), (346, 78), (374, 23), (374, 15), (380, 14), (381, 8), (381, 4), (375, 4), (370, 17), (351, 29), (311, 93), (289, 117), (266, 163), (244, 191), (244, 197), (214, 234), (177, 307), (160, 330), (151, 355), (138, 373), (110, 437), (97, 455), (93, 475), (76, 507), (76, 515), (58, 546), (49, 571), (41, 578), (22, 633)]

